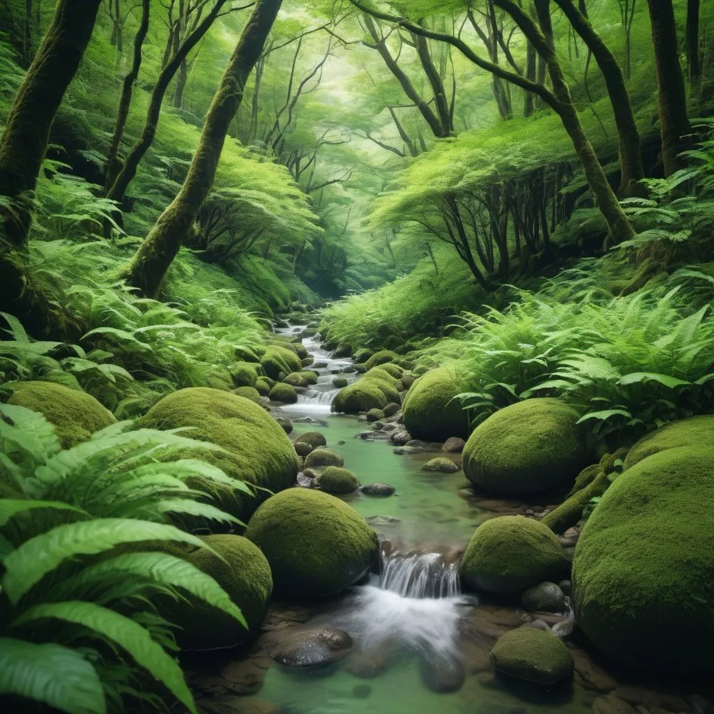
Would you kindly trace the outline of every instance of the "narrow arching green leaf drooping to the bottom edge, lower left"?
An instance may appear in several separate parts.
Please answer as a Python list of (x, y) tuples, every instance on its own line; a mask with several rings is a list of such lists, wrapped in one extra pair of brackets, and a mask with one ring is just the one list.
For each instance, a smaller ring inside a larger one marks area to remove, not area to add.
[(149, 670), (151, 675), (174, 694), (188, 710), (196, 714), (196, 704), (183, 679), (183, 672), (159, 643), (151, 639), (149, 630), (134, 620), (83, 600), (68, 600), (64, 603), (36, 605), (13, 621), (12, 627), (34, 622), (42, 618), (54, 618), (89, 628), (107, 640), (124, 648), (137, 664)]

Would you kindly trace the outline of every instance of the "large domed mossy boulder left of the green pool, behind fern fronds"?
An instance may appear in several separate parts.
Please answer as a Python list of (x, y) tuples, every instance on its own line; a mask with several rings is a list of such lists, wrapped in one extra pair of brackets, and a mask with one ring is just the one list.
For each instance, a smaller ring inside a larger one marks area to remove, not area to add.
[[(139, 420), (139, 426), (191, 427), (184, 436), (208, 441), (224, 451), (179, 449), (171, 453), (171, 461), (198, 458), (232, 478), (270, 491), (292, 486), (298, 473), (298, 456), (280, 424), (256, 403), (229, 392), (206, 387), (181, 389), (159, 400)], [(233, 516), (245, 520), (260, 503), (261, 493), (237, 493)]]

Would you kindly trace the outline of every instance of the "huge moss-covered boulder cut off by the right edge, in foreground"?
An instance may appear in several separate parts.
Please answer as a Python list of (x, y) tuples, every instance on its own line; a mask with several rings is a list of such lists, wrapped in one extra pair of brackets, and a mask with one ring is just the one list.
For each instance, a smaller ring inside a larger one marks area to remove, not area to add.
[(573, 560), (578, 625), (626, 665), (714, 671), (714, 453), (643, 458), (605, 491)]

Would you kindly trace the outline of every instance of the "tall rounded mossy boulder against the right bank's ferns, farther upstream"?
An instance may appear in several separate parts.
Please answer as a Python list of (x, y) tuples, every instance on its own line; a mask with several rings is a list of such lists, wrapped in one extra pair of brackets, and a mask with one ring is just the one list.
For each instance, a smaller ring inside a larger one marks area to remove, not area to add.
[(466, 438), (468, 417), (454, 399), (465, 391), (468, 386), (453, 368), (439, 367), (418, 378), (402, 401), (409, 433), (428, 441), (446, 441), (450, 436)]

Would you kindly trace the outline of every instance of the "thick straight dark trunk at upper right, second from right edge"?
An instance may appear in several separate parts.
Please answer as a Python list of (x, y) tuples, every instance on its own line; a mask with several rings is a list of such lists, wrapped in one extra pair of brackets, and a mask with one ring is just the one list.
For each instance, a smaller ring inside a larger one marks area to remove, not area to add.
[(671, 176), (685, 165), (679, 154), (688, 148), (690, 141), (687, 94), (679, 64), (672, 0), (647, 0), (647, 4), (655, 46), (662, 161), (665, 176)]

